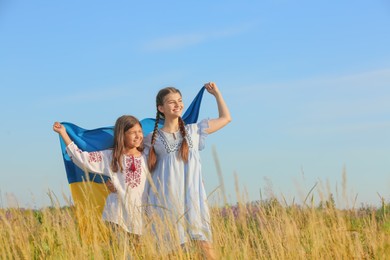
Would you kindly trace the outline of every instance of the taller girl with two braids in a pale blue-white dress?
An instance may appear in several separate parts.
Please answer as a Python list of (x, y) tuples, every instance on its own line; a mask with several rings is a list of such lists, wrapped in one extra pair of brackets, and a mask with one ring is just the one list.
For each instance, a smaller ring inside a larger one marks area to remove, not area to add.
[[(207, 258), (214, 259), (199, 151), (204, 148), (207, 135), (227, 125), (231, 117), (217, 85), (209, 82), (204, 87), (217, 101), (218, 118), (185, 125), (180, 91), (173, 87), (161, 89), (156, 97), (156, 125), (144, 144), (149, 149), (148, 166), (155, 186), (149, 192), (149, 205), (154, 205), (154, 216), (162, 224), (154, 227), (160, 245), (162, 242), (172, 249), (172, 242), (178, 240), (184, 245), (190, 240), (198, 244)], [(165, 121), (158, 129), (160, 118)]]

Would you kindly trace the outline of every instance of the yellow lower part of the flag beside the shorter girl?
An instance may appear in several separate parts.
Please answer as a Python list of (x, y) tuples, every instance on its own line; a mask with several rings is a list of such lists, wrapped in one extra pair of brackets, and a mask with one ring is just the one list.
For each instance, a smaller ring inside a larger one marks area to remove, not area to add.
[(96, 182), (74, 182), (69, 186), (81, 238), (87, 243), (101, 241), (105, 237), (102, 213), (110, 191), (104, 183)]

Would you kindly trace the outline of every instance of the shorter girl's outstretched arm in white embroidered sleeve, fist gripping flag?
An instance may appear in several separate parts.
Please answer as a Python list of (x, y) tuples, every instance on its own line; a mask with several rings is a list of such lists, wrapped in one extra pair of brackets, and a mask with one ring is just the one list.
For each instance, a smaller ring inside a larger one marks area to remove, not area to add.
[(54, 123), (53, 130), (54, 132), (57, 132), (64, 140), (66, 145), (66, 152), (74, 164), (76, 164), (81, 169), (110, 176), (109, 173), (105, 170), (107, 167), (105, 165), (106, 163), (104, 160), (104, 154), (102, 152), (81, 151), (77, 145), (73, 143), (72, 139), (70, 139), (68, 133), (66, 132), (65, 126), (59, 122)]

